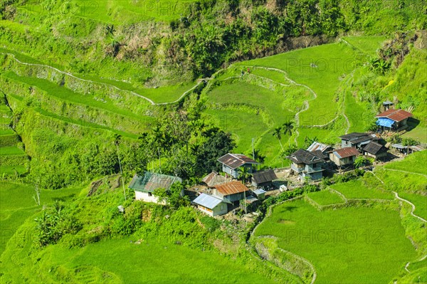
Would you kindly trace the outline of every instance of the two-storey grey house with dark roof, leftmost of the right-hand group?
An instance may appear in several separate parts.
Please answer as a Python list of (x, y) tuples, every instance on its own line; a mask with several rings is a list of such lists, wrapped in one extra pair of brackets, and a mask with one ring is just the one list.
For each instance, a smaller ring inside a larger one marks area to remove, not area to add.
[(310, 152), (305, 149), (298, 149), (287, 158), (292, 161), (290, 169), (292, 169), (292, 172), (295, 172), (300, 179), (305, 179), (305, 177), (313, 181), (322, 179), (322, 164), (325, 162), (322, 152)]

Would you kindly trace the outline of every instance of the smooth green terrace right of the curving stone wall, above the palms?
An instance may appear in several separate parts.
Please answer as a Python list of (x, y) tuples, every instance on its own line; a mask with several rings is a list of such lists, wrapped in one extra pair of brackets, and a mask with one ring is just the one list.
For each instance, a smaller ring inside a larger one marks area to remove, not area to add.
[[(311, 64), (317, 65), (317, 68)], [(335, 100), (340, 78), (360, 63), (357, 53), (344, 43), (325, 44), (247, 61), (245, 65), (278, 68), (296, 83), (307, 85), (317, 94), (310, 109), (302, 112), (301, 125), (323, 125), (336, 115)]]

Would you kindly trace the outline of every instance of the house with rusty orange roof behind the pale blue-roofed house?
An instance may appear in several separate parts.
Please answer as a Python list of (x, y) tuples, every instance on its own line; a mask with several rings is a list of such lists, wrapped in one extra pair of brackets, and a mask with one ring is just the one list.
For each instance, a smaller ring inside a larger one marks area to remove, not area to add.
[(249, 189), (246, 185), (238, 181), (233, 181), (214, 186), (213, 195), (229, 204), (230, 207), (233, 207), (238, 206), (239, 201), (249, 195), (248, 191)]

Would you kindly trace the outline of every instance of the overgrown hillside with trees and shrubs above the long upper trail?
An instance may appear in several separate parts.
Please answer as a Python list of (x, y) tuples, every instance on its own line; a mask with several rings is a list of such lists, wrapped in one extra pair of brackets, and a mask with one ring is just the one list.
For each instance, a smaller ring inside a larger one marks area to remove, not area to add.
[(298, 36), (426, 28), (422, 1), (165, 3), (165, 9), (149, 9), (133, 1), (93, 1), (88, 7), (80, 0), (8, 0), (0, 10), (0, 41), (73, 73), (153, 86), (210, 75), (223, 63), (327, 41), (292, 40)]

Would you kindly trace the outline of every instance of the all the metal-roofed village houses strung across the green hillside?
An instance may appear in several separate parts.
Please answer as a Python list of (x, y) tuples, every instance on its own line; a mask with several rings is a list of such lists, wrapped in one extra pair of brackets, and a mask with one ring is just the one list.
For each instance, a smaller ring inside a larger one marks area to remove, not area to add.
[[(404, 110), (388, 109), (376, 116), (376, 124), (381, 131), (396, 131), (407, 127), (411, 113)], [(292, 162), (290, 170), (298, 179), (318, 181), (325, 171), (339, 172), (351, 169), (356, 157), (365, 155), (374, 159), (383, 159), (387, 155), (389, 144), (377, 133), (353, 132), (339, 137), (341, 144), (334, 148), (320, 142), (313, 142), (307, 149), (298, 149), (287, 158)], [(259, 201), (265, 199), (265, 194), (273, 188), (273, 181), (278, 179), (273, 169), (257, 172), (255, 166), (259, 163), (244, 154), (225, 154), (218, 159), (222, 164), (222, 174), (211, 172), (202, 179), (203, 190), (196, 191), (192, 200), (199, 210), (210, 216), (228, 213), (238, 207), (252, 209)], [(251, 174), (251, 185), (238, 181), (243, 173)], [(179, 177), (165, 174), (146, 172), (143, 176), (135, 175), (130, 182), (130, 189), (135, 190), (135, 199), (148, 202), (163, 203), (154, 196), (154, 190), (164, 188), (169, 190), (174, 182), (182, 182)], [(250, 189), (251, 188), (251, 189)], [(181, 192), (184, 194), (184, 191)]]

